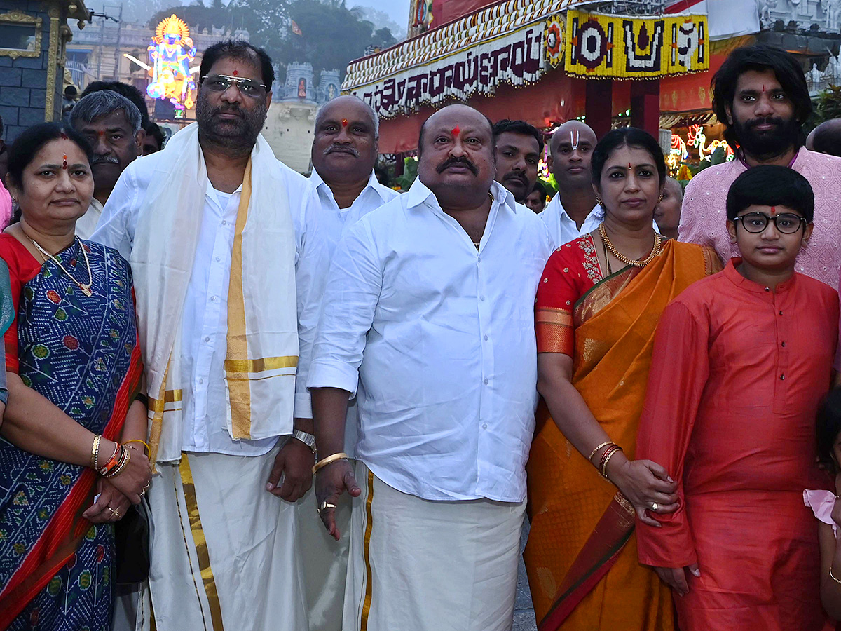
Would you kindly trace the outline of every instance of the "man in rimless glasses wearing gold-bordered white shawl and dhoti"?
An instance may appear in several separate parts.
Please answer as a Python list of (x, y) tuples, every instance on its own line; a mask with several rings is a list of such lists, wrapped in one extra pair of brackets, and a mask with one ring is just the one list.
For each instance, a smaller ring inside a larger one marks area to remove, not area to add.
[(151, 608), (167, 631), (307, 631), (288, 502), (314, 461), (307, 436), (290, 438), (291, 210), (309, 187), (259, 135), (273, 79), (245, 42), (205, 50), (197, 123), (126, 169), (93, 236), (134, 273), (156, 464)]

